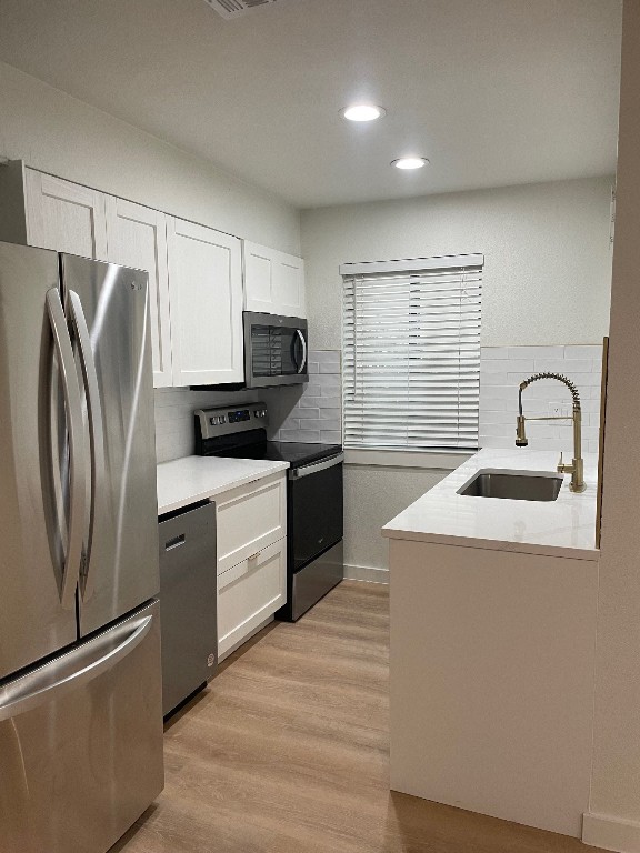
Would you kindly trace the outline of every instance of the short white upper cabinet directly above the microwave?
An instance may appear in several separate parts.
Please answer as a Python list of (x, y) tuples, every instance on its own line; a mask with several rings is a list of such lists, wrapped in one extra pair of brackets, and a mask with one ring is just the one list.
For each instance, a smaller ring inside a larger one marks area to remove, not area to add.
[(244, 241), (244, 308), (306, 318), (304, 261)]

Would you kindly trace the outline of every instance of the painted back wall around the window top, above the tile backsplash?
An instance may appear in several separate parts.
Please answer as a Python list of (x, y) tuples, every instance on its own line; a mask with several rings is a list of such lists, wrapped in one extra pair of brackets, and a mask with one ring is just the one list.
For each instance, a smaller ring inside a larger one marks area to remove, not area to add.
[(600, 343), (612, 179), (508, 187), (302, 212), (310, 342), (340, 347), (346, 261), (484, 254), (482, 344)]

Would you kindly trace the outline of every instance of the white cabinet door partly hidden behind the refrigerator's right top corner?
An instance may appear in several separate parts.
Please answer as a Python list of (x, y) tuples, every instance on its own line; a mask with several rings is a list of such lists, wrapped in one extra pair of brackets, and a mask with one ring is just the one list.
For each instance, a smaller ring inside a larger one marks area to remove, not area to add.
[(167, 217), (108, 195), (107, 252), (112, 263), (136, 267), (149, 273), (153, 388), (171, 385)]

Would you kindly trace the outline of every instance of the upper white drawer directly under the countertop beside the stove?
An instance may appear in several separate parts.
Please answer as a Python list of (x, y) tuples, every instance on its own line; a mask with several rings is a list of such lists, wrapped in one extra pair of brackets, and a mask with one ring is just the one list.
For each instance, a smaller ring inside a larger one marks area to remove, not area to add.
[(216, 500), (218, 574), (287, 533), (284, 474), (233, 489)]

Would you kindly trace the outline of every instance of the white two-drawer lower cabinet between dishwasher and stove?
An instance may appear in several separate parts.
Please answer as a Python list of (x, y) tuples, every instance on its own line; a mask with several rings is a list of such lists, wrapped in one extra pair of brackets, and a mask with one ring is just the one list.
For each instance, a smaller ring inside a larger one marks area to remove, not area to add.
[(287, 603), (287, 480), (278, 472), (216, 499), (218, 654)]

